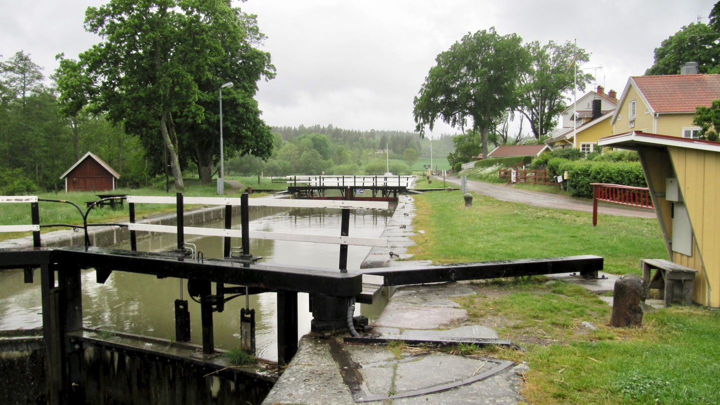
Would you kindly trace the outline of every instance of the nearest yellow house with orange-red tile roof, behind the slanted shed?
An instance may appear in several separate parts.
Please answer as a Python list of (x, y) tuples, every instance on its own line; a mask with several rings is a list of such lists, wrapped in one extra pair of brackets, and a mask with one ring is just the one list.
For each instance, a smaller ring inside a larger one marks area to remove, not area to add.
[(638, 131), (697, 138), (696, 107), (710, 107), (714, 99), (720, 99), (717, 74), (631, 76), (611, 119), (613, 134)]

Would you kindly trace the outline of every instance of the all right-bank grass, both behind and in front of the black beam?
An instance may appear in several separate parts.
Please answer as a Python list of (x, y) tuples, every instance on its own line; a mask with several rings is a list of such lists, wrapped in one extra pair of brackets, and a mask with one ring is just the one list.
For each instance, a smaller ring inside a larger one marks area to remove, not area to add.
[[(475, 262), (598, 254), (605, 270), (639, 274), (639, 259), (665, 258), (657, 220), (503, 203), (459, 192), (415, 197), (413, 259)], [(470, 323), (492, 326), (526, 353), (474, 350), (526, 361), (523, 395), (531, 404), (720, 404), (720, 312), (649, 309), (640, 328), (608, 326), (611, 307), (578, 285), (526, 277), (481, 280), (456, 298)], [(596, 330), (582, 327), (593, 322)], [(467, 348), (465, 348), (467, 351)]]

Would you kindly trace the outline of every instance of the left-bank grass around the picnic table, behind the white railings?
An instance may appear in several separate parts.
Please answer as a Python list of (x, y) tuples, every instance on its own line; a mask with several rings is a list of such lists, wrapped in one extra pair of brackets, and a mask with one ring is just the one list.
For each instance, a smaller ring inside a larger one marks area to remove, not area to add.
[[(269, 182), (269, 179), (267, 179)], [(215, 182), (211, 184), (199, 184), (198, 179), (184, 179), (185, 191), (184, 195), (187, 197), (217, 197), (217, 186)], [(255, 179), (257, 183), (257, 179)], [(225, 193), (229, 194), (230, 185), (225, 184)], [(279, 187), (277, 187), (279, 188)], [(72, 201), (79, 205), (83, 211), (86, 208), (86, 201), (98, 200), (98, 192), (41, 192), (37, 195), (40, 198), (46, 198), (48, 200), (67, 200)], [(108, 192), (99, 192), (108, 193)], [(165, 184), (158, 183), (156, 187), (147, 187), (140, 189), (126, 189), (119, 188), (113, 192), (114, 194), (127, 194), (127, 195), (171, 195), (175, 196), (175, 190), (173, 189), (172, 179), (170, 185), (170, 192), (165, 192)], [(186, 209), (194, 208), (193, 205), (186, 205)], [(163, 212), (174, 212), (175, 205), (171, 204), (140, 204), (135, 206), (135, 216), (142, 218), (143, 215)], [(88, 216), (88, 223), (112, 223), (114, 221), (122, 221), (129, 218), (129, 212), (127, 204), (124, 204), (122, 209), (112, 210), (109, 207), (105, 208), (93, 208), (90, 215)], [(0, 225), (27, 225), (30, 224), (30, 203), (6, 203), (0, 205)], [(68, 223), (70, 225), (82, 225), (83, 220), (80, 212), (77, 208), (66, 203), (48, 203), (40, 202), (40, 224), (50, 223)], [(41, 228), (42, 233), (50, 231), (58, 231), (60, 229), (68, 229), (66, 227), (57, 228)], [(30, 232), (6, 232), (0, 233), (0, 240), (16, 239), (22, 236), (30, 236)]]

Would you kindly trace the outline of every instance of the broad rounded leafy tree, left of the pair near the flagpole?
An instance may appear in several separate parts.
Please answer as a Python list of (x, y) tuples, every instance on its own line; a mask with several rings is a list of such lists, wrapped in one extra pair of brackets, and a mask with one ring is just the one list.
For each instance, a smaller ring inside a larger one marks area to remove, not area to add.
[(518, 107), (520, 78), (530, 66), (521, 37), (498, 35), (494, 27), (468, 33), (435, 60), (414, 99), (416, 130), (432, 130), (438, 119), (464, 129), (471, 118), (487, 156), (488, 130), (505, 110)]

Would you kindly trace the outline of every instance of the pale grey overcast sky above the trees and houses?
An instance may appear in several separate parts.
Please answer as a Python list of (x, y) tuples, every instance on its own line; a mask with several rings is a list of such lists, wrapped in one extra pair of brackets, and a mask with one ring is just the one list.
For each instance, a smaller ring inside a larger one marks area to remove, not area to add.
[[(76, 58), (99, 42), (83, 29), (97, 0), (0, 0), (0, 55), (18, 50), (51, 74), (55, 54)], [(565, 41), (592, 53), (606, 91), (652, 65), (653, 50), (713, 0), (249, 0), (277, 77), (260, 84), (269, 125), (414, 130), (413, 97), (438, 53), (467, 32), (495, 27), (525, 41)], [(588, 89), (589, 90), (589, 89)], [(526, 126), (527, 128), (527, 126)], [(435, 133), (456, 132), (438, 123)]]

